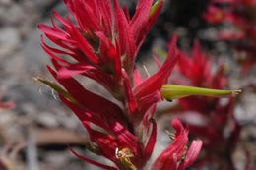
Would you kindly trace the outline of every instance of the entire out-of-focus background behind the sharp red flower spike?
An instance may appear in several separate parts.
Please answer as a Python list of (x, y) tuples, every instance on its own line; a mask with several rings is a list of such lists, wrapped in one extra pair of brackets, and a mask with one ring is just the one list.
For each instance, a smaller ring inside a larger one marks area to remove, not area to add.
[[(136, 0), (120, 2), (133, 14)], [(67, 149), (71, 144), (87, 153), (87, 135), (79, 120), (54, 91), (33, 81), (36, 76), (52, 79), (37, 24), (50, 24), (53, 9), (68, 15), (61, 0), (0, 0), (0, 170), (96, 169)], [(256, 169), (255, 11), (253, 0), (165, 0), (138, 66), (153, 74), (153, 54), (164, 60), (175, 33), (186, 57), (170, 83), (243, 92), (229, 99), (190, 97), (160, 103), (156, 155), (169, 144), (166, 132), (178, 116), (188, 125), (190, 140), (204, 141), (191, 169)]]

